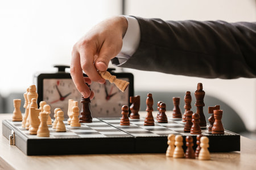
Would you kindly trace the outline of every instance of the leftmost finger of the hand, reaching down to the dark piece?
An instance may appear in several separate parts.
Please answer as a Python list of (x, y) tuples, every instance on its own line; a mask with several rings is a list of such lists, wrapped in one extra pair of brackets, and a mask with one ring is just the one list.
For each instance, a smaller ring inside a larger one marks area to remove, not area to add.
[(72, 52), (70, 73), (77, 90), (85, 98), (89, 97), (91, 95), (91, 92), (89, 87), (85, 84), (85, 79), (84, 79), (84, 76), (82, 75), (82, 69), (80, 64), (80, 56), (79, 56), (79, 53), (76, 52), (76, 50), (73, 50)]

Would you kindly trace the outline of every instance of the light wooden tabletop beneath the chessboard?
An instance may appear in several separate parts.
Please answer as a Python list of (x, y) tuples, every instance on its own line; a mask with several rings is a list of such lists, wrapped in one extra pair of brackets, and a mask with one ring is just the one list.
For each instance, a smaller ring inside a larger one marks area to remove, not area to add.
[[(141, 113), (141, 112), (140, 112)], [(141, 113), (143, 116), (145, 113)], [(156, 114), (156, 113), (154, 113)], [(0, 122), (11, 114), (0, 114)], [(2, 135), (0, 169), (254, 169), (256, 141), (241, 137), (241, 151), (211, 153), (211, 160), (174, 159), (165, 154), (27, 156)], [(102, 143), (104, 145), (104, 143)], [(71, 146), (72, 147), (72, 146)], [(65, 149), (65, 148), (63, 148)]]

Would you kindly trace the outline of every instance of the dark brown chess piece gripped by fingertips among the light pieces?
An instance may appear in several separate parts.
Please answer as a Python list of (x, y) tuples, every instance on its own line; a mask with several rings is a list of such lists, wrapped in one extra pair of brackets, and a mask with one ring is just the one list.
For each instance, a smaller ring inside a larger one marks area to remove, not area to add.
[(80, 123), (92, 123), (92, 113), (90, 112), (90, 98), (81, 99), (82, 108), (80, 112), (79, 122)]

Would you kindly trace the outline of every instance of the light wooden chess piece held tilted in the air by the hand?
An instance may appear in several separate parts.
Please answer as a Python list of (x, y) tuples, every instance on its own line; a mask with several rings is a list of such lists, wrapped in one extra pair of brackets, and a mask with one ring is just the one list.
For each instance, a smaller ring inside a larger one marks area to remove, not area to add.
[(98, 71), (98, 73), (100, 73), (102, 78), (109, 80), (110, 83), (114, 83), (115, 86), (117, 86), (117, 88), (122, 92), (124, 92), (129, 85), (129, 82), (126, 80), (117, 79), (117, 76), (111, 75), (109, 71)]

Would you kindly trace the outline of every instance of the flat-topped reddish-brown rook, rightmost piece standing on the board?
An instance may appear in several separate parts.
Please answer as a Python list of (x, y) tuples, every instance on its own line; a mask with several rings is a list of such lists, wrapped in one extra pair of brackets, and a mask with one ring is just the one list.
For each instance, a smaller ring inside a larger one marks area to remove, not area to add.
[(212, 134), (224, 134), (224, 128), (221, 122), (222, 112), (222, 110), (213, 111), (215, 121), (212, 127)]

